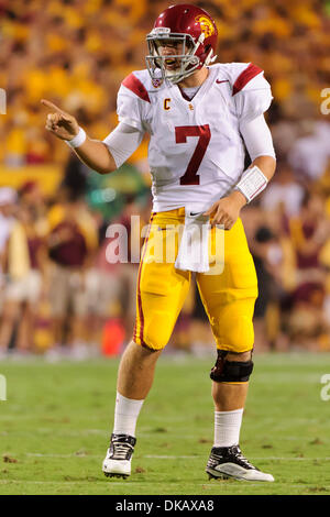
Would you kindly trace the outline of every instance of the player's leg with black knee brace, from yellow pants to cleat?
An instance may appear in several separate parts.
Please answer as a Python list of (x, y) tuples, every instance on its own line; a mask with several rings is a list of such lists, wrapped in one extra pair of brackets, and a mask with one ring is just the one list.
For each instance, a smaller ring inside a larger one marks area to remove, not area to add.
[(217, 341), (211, 371), (215, 402), (215, 443), (207, 472), (216, 477), (273, 481), (257, 471), (239, 447), (242, 416), (253, 370), (253, 311), (257, 296), (254, 264), (241, 220), (224, 232), (224, 268), (219, 275), (198, 275), (197, 283)]

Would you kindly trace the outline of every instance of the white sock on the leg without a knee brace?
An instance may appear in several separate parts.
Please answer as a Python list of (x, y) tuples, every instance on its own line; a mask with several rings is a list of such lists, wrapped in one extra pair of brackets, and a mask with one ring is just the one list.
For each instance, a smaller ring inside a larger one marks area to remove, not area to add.
[(114, 409), (114, 435), (135, 437), (136, 421), (144, 400), (133, 400), (117, 392)]

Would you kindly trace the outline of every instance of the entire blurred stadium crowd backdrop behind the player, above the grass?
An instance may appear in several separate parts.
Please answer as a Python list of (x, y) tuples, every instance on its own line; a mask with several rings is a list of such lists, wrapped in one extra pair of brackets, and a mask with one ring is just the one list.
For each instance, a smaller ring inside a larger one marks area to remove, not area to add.
[[(329, 351), (330, 123), (320, 107), (330, 86), (330, 3), (191, 3), (216, 19), (218, 61), (257, 64), (274, 95), (266, 118), (277, 172), (242, 213), (261, 292), (255, 350)], [(0, 235), (8, 213), (20, 223), (10, 229), (1, 277), (2, 353), (9, 346), (50, 360), (118, 355), (131, 337), (138, 266), (107, 262), (106, 229), (128, 226), (132, 213), (148, 219), (147, 141), (120, 172), (99, 176), (45, 131), (40, 100), (52, 100), (91, 138), (103, 139), (117, 124), (120, 82), (144, 68), (145, 35), (168, 4), (0, 0), (0, 87), (7, 92)], [(8, 273), (31, 279), (19, 299), (8, 288)], [(193, 288), (167, 351), (202, 355), (213, 353), (212, 343)]]

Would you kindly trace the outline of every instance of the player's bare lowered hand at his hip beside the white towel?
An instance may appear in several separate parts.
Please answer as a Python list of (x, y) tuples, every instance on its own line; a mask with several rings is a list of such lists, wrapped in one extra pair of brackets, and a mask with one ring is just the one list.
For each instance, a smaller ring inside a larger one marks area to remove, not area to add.
[(230, 230), (240, 217), (242, 207), (246, 205), (246, 199), (242, 193), (234, 190), (229, 196), (216, 201), (204, 216), (210, 217), (210, 223), (223, 224), (224, 230)]

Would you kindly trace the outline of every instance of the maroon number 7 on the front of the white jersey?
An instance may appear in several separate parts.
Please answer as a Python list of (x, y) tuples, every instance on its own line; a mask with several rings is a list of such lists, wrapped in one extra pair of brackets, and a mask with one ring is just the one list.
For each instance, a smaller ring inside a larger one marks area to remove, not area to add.
[(175, 141), (177, 144), (185, 144), (188, 136), (198, 136), (198, 142), (186, 172), (180, 177), (180, 185), (199, 185), (197, 172), (211, 138), (209, 124), (179, 125), (175, 128)]

